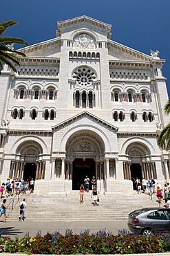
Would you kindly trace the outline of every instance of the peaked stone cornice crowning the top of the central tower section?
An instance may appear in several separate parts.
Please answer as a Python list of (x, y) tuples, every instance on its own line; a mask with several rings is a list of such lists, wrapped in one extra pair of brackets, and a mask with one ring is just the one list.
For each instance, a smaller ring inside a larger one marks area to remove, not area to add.
[(87, 23), (87, 24), (92, 24), (94, 26), (98, 26), (98, 28), (100, 28), (100, 30), (107, 30), (107, 38), (110, 39), (111, 38), (111, 25), (110, 24), (106, 24), (102, 21), (98, 21), (97, 19), (93, 19), (91, 17), (88, 17), (86, 15), (80, 16), (80, 17), (76, 17), (73, 19), (67, 19), (65, 21), (59, 21), (57, 22), (57, 27), (58, 30), (56, 31), (56, 36), (57, 37), (61, 37), (61, 29), (65, 28), (66, 26), (70, 26), (70, 25), (74, 25), (74, 24), (81, 24), (81, 23)]

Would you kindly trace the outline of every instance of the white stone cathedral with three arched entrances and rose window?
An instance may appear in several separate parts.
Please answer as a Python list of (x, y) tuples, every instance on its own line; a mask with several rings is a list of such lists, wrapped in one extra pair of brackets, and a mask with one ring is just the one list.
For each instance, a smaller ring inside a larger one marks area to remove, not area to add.
[[(148, 46), (149, 47), (149, 46)], [(0, 75), (0, 179), (36, 179), (35, 192), (70, 193), (85, 176), (100, 192), (133, 179), (169, 180), (157, 145), (168, 116), (164, 60), (111, 40), (87, 16), (58, 22), (56, 38), (22, 48), (21, 66)]]

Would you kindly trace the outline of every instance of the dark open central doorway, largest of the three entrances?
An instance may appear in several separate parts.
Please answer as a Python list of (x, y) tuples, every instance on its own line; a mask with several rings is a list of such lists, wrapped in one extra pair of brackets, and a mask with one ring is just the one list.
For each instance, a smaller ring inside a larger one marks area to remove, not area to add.
[[(81, 184), (84, 184), (86, 175), (88, 176), (89, 181), (92, 180), (92, 176), (96, 176), (94, 159), (87, 158), (83, 161), (82, 158), (76, 158), (73, 162), (72, 190), (80, 189)], [(91, 190), (91, 185), (89, 185), (89, 189)]]

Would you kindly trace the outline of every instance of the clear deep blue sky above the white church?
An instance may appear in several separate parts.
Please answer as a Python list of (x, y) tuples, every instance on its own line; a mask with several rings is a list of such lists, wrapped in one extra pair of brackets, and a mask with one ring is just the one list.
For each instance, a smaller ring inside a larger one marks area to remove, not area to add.
[[(8, 0), (0, 3), (0, 23), (18, 25), (6, 35), (29, 44), (56, 37), (56, 22), (87, 15), (111, 24), (111, 39), (150, 55), (160, 51), (170, 95), (170, 0)], [(21, 46), (16, 46), (19, 48)]]

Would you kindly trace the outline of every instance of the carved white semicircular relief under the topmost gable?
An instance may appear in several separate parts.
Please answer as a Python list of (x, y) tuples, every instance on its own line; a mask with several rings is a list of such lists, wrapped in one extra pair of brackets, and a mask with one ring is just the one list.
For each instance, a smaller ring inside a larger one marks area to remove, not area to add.
[(74, 38), (73, 47), (95, 49), (94, 39), (89, 35), (78, 35)]

